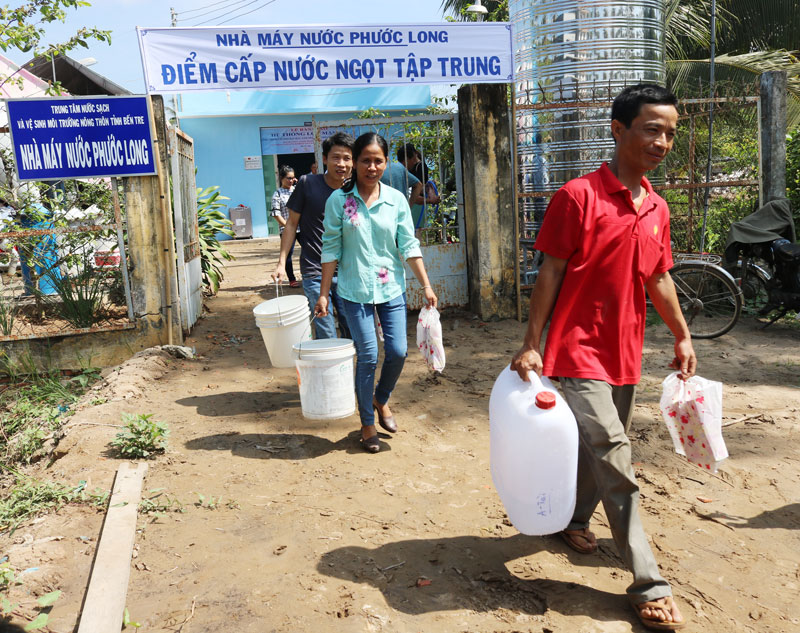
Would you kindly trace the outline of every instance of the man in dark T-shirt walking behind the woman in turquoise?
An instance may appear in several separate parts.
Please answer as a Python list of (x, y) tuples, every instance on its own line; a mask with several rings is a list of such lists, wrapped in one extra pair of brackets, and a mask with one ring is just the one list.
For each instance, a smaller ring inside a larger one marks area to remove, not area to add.
[[(350, 177), (353, 169), (353, 137), (338, 132), (322, 144), (322, 164), (324, 174), (306, 174), (295, 185), (294, 192), (286, 206), (289, 218), (281, 237), (281, 254), (272, 279), (280, 281), (286, 277), (286, 258), (294, 243), (295, 235), (300, 242), (300, 272), (303, 275), (303, 292), (311, 310), (319, 299), (319, 286), (322, 281), (322, 221), (325, 217), (325, 203), (328, 197), (339, 189)], [(296, 232), (299, 226), (299, 232)], [(330, 304), (334, 306), (343, 338), (350, 337), (341, 299), (336, 294), (336, 277), (331, 284)], [(331, 312), (325, 317), (317, 317), (316, 338), (336, 338), (336, 321)]]

